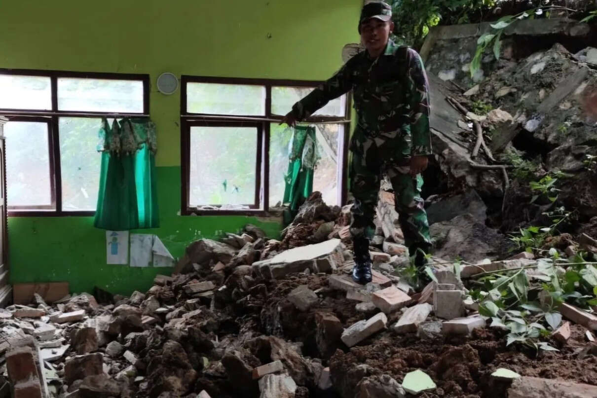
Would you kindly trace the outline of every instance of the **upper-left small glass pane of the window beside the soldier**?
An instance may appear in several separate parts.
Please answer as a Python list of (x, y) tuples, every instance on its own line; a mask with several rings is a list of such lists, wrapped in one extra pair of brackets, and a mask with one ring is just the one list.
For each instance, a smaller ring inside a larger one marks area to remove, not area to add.
[(187, 112), (211, 115), (265, 115), (265, 87), (187, 83)]

